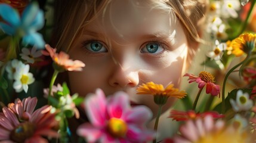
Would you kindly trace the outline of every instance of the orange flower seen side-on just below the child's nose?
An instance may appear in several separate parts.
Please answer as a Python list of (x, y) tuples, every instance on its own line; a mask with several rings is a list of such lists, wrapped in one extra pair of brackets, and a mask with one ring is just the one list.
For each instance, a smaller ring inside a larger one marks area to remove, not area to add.
[(147, 82), (137, 88), (137, 94), (153, 95), (155, 103), (163, 105), (169, 97), (184, 98), (187, 93), (185, 91), (178, 91), (178, 88), (174, 88), (174, 84), (170, 84), (164, 88), (163, 85)]

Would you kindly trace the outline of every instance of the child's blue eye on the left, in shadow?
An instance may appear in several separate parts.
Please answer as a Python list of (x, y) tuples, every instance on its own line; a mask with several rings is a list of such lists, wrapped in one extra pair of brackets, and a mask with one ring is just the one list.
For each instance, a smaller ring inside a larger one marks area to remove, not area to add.
[(85, 43), (85, 48), (87, 48), (91, 52), (107, 52), (107, 48), (103, 46), (101, 42), (98, 41), (91, 41)]

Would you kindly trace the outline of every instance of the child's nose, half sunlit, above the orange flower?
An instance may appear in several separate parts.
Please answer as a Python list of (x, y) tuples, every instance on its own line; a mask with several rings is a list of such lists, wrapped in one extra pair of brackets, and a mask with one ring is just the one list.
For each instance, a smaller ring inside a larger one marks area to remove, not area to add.
[(139, 82), (137, 71), (125, 71), (122, 67), (117, 67), (113, 70), (112, 75), (109, 78), (109, 84), (113, 87), (134, 87)]

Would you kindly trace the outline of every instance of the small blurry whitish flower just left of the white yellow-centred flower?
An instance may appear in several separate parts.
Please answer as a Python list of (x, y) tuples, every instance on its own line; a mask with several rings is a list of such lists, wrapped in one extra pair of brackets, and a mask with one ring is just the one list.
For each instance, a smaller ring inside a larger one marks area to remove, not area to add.
[(14, 59), (12, 61), (8, 61), (7, 66), (5, 67), (5, 70), (8, 73), (8, 79), (13, 80), (14, 79), (14, 73), (16, 73), (17, 69), (20, 67), (23, 67), (24, 64), (17, 60)]

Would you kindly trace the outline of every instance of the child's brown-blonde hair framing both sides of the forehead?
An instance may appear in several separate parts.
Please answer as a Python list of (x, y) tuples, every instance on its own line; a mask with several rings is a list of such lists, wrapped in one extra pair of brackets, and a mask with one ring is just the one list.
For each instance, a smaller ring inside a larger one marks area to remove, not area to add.
[[(59, 51), (69, 51), (84, 26), (96, 15), (104, 13), (111, 0), (55, 0), (55, 16), (52, 45)], [(187, 36), (188, 43), (202, 42), (200, 31), (208, 0), (151, 0), (155, 7), (176, 15)], [(189, 58), (196, 47), (189, 48)]]

